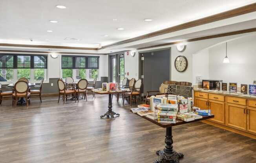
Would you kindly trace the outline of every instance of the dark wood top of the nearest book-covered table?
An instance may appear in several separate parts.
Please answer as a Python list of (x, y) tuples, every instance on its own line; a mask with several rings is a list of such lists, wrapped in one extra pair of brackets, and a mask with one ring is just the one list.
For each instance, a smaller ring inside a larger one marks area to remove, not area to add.
[[(139, 114), (135, 113), (136, 115), (140, 116)], [(201, 121), (201, 120), (207, 120), (207, 119), (210, 119), (210, 118), (214, 118), (214, 115), (211, 115), (211, 116), (203, 116), (203, 118), (201, 119), (197, 119), (197, 120), (194, 120), (194, 121), (189, 121), (189, 122), (186, 122), (186, 121), (183, 121), (183, 120), (178, 120), (176, 119), (176, 123), (158, 123), (157, 120), (152, 120), (146, 116), (141, 116), (142, 118), (148, 120), (148, 121), (151, 121), (152, 123), (155, 123), (156, 125), (160, 126), (160, 127), (163, 127), (163, 128), (167, 128), (167, 127), (172, 127), (172, 126), (177, 126), (177, 125), (183, 125), (183, 124), (186, 124), (186, 123), (191, 123), (191, 122), (195, 122), (195, 121)]]

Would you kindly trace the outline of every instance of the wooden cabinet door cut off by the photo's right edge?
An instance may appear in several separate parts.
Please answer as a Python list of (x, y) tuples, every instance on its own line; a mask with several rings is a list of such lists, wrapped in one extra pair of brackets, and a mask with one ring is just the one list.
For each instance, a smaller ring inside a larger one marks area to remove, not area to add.
[(247, 130), (256, 134), (256, 109), (247, 110)]

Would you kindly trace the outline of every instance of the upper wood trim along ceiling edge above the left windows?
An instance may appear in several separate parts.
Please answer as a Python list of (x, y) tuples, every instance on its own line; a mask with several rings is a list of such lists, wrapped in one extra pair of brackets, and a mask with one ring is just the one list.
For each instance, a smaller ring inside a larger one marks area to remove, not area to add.
[(94, 47), (71, 47), (71, 46), (53, 46), (53, 45), (27, 45), (27, 44), (15, 44), (15, 43), (0, 43), (0, 46), (13, 46), (13, 47), (33, 47), (33, 48), (52, 48), (52, 49), (76, 49), (76, 50), (95, 50)]

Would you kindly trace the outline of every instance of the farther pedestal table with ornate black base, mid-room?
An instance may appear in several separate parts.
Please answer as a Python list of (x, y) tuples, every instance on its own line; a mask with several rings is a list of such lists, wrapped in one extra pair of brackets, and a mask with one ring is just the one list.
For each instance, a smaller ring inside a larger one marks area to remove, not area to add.
[[(101, 116), (101, 118), (103, 118), (104, 116), (109, 116), (110, 119), (113, 120), (116, 117), (120, 116), (120, 114), (115, 113), (115, 112), (112, 111), (112, 94), (125, 93), (125, 92), (129, 92), (129, 91), (110, 91), (110, 92), (107, 92), (107, 91), (98, 91), (96, 89), (93, 89), (91, 91), (96, 93), (96, 94), (108, 94), (108, 111), (105, 114), (103, 114)], [(117, 115), (117, 116), (115, 117), (114, 115)]]

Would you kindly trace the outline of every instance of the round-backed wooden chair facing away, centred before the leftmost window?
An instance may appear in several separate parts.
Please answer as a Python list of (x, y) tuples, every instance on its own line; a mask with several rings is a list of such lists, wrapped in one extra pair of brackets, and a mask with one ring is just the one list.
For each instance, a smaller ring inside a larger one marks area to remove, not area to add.
[(28, 102), (29, 104), (31, 103), (29, 86), (28, 86), (28, 83), (24, 80), (20, 80), (16, 82), (14, 85), (13, 105), (15, 105), (15, 107), (17, 106), (18, 98), (25, 98), (27, 107), (28, 107)]

